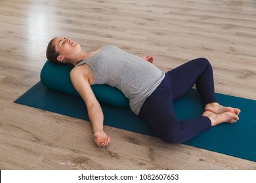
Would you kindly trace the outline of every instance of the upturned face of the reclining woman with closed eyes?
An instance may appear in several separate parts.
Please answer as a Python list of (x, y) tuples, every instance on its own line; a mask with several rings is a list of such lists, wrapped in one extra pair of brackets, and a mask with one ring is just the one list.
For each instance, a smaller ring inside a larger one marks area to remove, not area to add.
[(60, 56), (57, 58), (58, 61), (67, 62), (68, 60), (74, 59), (81, 52), (80, 44), (69, 38), (56, 37), (53, 44), (56, 51), (60, 53)]

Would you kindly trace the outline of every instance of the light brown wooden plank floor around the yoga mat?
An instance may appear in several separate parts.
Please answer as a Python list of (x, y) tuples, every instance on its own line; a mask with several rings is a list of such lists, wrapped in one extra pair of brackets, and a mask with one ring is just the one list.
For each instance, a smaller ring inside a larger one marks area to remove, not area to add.
[(218, 93), (256, 99), (255, 0), (1, 0), (0, 169), (256, 169), (256, 163), (14, 104), (39, 81), (53, 37), (114, 44), (161, 70), (205, 57)]

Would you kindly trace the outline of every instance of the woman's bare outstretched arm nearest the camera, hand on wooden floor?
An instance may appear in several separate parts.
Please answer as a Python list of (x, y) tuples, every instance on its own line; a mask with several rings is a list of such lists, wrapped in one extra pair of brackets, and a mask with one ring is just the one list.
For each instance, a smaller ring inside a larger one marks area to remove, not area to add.
[(93, 126), (93, 139), (98, 146), (106, 146), (110, 143), (110, 137), (103, 130), (103, 112), (98, 103), (91, 85), (89, 84), (89, 75), (85, 68), (75, 67), (70, 73), (70, 78), (75, 90), (85, 101), (89, 118)]

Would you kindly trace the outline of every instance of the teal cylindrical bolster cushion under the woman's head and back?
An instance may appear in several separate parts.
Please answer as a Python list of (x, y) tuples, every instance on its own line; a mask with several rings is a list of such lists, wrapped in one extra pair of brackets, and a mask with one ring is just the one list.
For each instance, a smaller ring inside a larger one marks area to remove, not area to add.
[[(70, 71), (73, 67), (72, 65), (55, 65), (47, 60), (41, 70), (41, 83), (47, 88), (80, 96), (70, 79)], [(91, 88), (99, 103), (114, 107), (129, 106), (129, 100), (117, 88), (107, 84), (95, 84)]]

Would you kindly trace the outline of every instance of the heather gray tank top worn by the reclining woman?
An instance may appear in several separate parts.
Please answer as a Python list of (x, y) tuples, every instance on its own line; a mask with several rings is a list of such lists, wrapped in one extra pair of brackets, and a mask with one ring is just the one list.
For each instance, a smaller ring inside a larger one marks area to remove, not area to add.
[(156, 90), (165, 76), (152, 63), (116, 46), (103, 46), (100, 52), (80, 61), (75, 67), (84, 63), (93, 71), (93, 84), (108, 84), (121, 90), (129, 99), (131, 110), (137, 115), (146, 98)]

